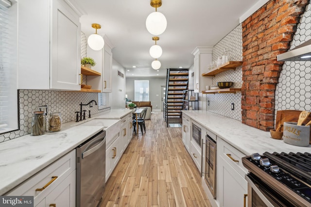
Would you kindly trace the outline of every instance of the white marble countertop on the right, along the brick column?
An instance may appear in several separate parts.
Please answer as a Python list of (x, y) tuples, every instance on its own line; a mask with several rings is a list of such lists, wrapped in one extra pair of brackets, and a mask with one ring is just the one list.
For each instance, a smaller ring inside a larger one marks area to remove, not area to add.
[[(242, 122), (208, 111), (182, 111), (193, 121), (209, 129), (245, 155), (258, 152), (310, 152), (309, 147), (294, 146), (272, 139), (270, 132), (242, 124)], [(205, 136), (205, 135), (202, 135)]]

